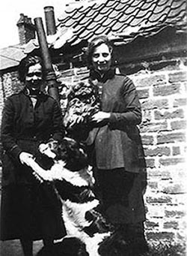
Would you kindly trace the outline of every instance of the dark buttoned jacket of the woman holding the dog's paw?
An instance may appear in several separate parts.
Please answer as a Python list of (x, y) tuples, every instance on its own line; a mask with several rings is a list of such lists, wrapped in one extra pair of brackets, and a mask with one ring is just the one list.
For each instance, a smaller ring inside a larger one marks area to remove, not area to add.
[(62, 137), (61, 109), (54, 98), (40, 92), (35, 107), (26, 89), (7, 98), (1, 121), (2, 184), (28, 182), (19, 154), (24, 151), (36, 155), (40, 143)]

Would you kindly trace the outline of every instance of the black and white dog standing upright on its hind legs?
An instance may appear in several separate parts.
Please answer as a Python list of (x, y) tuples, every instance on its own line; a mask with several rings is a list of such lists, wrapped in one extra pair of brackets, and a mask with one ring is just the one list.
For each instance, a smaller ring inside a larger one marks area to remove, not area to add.
[(94, 179), (84, 148), (65, 137), (61, 143), (52, 140), (41, 144), (39, 151), (40, 165), (33, 161), (31, 167), (40, 181), (54, 183), (62, 203), (62, 218), (67, 229), (65, 239), (79, 239), (90, 256), (125, 255), (126, 241), (99, 211), (100, 203), (93, 193)]

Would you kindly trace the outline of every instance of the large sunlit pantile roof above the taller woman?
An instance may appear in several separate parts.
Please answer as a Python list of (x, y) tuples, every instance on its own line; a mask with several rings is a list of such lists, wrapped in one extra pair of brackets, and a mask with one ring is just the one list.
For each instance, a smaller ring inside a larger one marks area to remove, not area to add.
[(106, 34), (129, 43), (165, 28), (186, 32), (186, 0), (92, 0), (70, 5), (58, 18), (58, 27), (73, 29), (68, 41), (79, 44)]

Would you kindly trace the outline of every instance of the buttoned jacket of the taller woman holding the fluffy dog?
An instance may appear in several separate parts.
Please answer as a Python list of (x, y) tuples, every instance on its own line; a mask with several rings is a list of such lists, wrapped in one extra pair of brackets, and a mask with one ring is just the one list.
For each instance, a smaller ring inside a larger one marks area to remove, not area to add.
[(91, 83), (99, 90), (101, 111), (111, 114), (107, 123), (101, 123), (90, 133), (95, 144), (96, 167), (103, 170), (124, 167), (128, 172), (139, 173), (145, 160), (138, 130), (141, 104), (135, 85), (114, 70), (103, 77), (91, 72)]

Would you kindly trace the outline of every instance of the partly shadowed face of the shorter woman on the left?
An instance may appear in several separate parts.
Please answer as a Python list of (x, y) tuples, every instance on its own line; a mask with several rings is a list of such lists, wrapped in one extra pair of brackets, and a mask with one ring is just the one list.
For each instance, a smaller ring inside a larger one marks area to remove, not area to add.
[(30, 66), (25, 76), (26, 86), (28, 86), (28, 88), (32, 90), (38, 90), (40, 89), (42, 80), (43, 80), (42, 66), (39, 63)]

